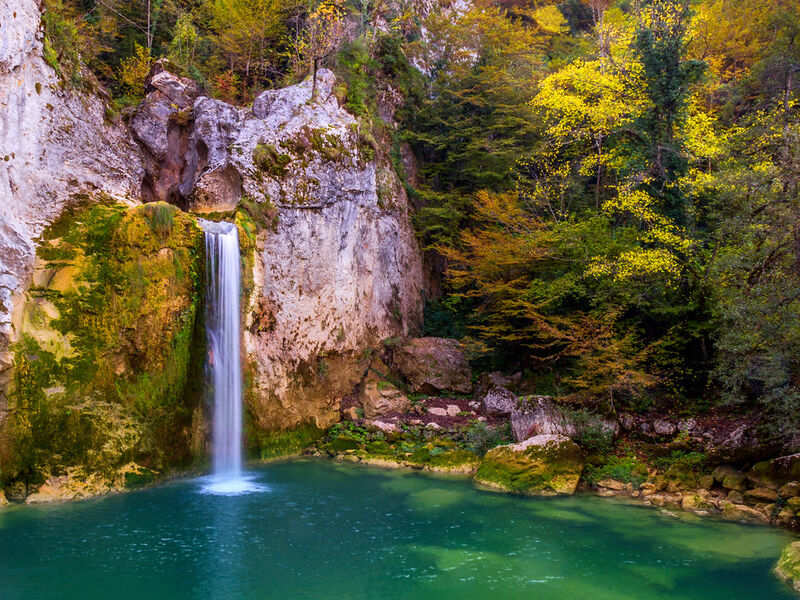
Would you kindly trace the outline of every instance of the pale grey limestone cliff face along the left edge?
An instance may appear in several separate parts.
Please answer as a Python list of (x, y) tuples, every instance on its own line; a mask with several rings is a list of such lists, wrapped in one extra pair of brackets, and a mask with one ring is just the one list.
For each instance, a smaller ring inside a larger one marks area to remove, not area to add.
[(34, 240), (76, 198), (138, 196), (140, 151), (103, 102), (61, 82), (42, 58), (37, 0), (0, 0), (0, 421), (15, 296), (30, 280)]

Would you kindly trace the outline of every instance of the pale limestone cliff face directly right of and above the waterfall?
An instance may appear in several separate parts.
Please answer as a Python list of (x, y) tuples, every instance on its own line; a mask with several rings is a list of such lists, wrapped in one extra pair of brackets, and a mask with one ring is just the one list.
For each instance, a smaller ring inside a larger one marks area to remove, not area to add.
[[(259, 429), (338, 419), (338, 400), (366, 370), (362, 353), (422, 319), (405, 190), (333, 83), (322, 70), (313, 98), (306, 80), (251, 109), (198, 97), (189, 111), (190, 82), (159, 72), (133, 121), (146, 153), (165, 157), (146, 177), (157, 197), (195, 212), (230, 211), (244, 197), (274, 216), (257, 236), (245, 311)], [(178, 160), (169, 147), (182, 149)]]

